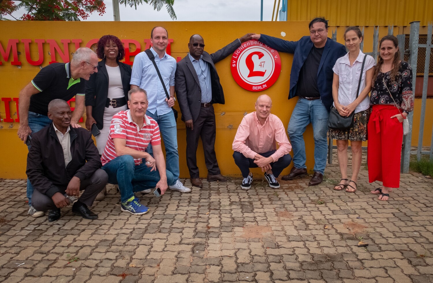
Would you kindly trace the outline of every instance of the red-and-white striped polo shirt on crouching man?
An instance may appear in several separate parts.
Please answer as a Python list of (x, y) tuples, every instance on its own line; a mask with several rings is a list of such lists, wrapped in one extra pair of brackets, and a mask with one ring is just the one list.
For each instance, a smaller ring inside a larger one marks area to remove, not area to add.
[[(149, 143), (160, 145), (158, 123), (149, 116), (144, 116), (144, 124), (141, 129), (132, 121), (130, 110), (120, 111), (113, 116), (108, 134), (107, 144), (101, 156), (102, 165), (107, 164), (117, 157), (113, 138), (126, 139), (126, 146), (138, 151), (145, 151)], [(136, 165), (142, 162), (142, 158), (134, 158)]]

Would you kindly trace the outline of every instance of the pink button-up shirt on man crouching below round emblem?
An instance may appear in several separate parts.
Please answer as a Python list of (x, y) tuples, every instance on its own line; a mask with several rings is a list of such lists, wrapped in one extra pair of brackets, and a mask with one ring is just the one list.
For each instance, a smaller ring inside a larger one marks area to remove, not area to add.
[[(278, 149), (276, 143), (278, 143)], [(242, 153), (246, 158), (254, 158), (256, 154), (277, 149), (271, 155), (275, 162), (281, 156), (288, 154), (292, 146), (287, 138), (283, 123), (277, 116), (269, 114), (262, 125), (257, 119), (256, 113), (252, 112), (242, 119), (232, 148), (234, 151)]]

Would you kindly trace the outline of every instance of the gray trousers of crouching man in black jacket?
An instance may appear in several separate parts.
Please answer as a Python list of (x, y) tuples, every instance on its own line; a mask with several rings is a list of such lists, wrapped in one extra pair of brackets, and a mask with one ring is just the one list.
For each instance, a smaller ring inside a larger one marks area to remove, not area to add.
[[(104, 170), (98, 169), (86, 180), (81, 181), (80, 191), (84, 190), (79, 200), (87, 206), (92, 206), (96, 196), (107, 184), (108, 175)], [(44, 195), (37, 189), (33, 191), (32, 206), (37, 211), (57, 209), (51, 197)]]

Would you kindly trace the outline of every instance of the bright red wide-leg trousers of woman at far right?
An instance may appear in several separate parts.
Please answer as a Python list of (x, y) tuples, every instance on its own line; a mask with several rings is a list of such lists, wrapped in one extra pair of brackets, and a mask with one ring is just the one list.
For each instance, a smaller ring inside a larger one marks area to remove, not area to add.
[(403, 141), (403, 123), (393, 105), (373, 105), (368, 120), (368, 181), (383, 182), (383, 186), (400, 187), (401, 143)]

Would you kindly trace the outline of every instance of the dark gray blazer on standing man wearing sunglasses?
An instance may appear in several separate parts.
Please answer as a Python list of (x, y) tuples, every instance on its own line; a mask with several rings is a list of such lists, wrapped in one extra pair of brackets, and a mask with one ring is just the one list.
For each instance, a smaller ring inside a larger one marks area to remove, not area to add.
[[(209, 54), (206, 51), (203, 52), (202, 59), (210, 67), (210, 82), (212, 84), (211, 103), (225, 103), (223, 87), (220, 84), (220, 77), (216, 72), (214, 64), (232, 54), (239, 46), (241, 46), (239, 39), (235, 39), (235, 41), (215, 53)], [(193, 119), (194, 122), (200, 113), (201, 88), (197, 73), (188, 55), (177, 64), (174, 89), (176, 90), (176, 96), (181, 108), (182, 121)]]

